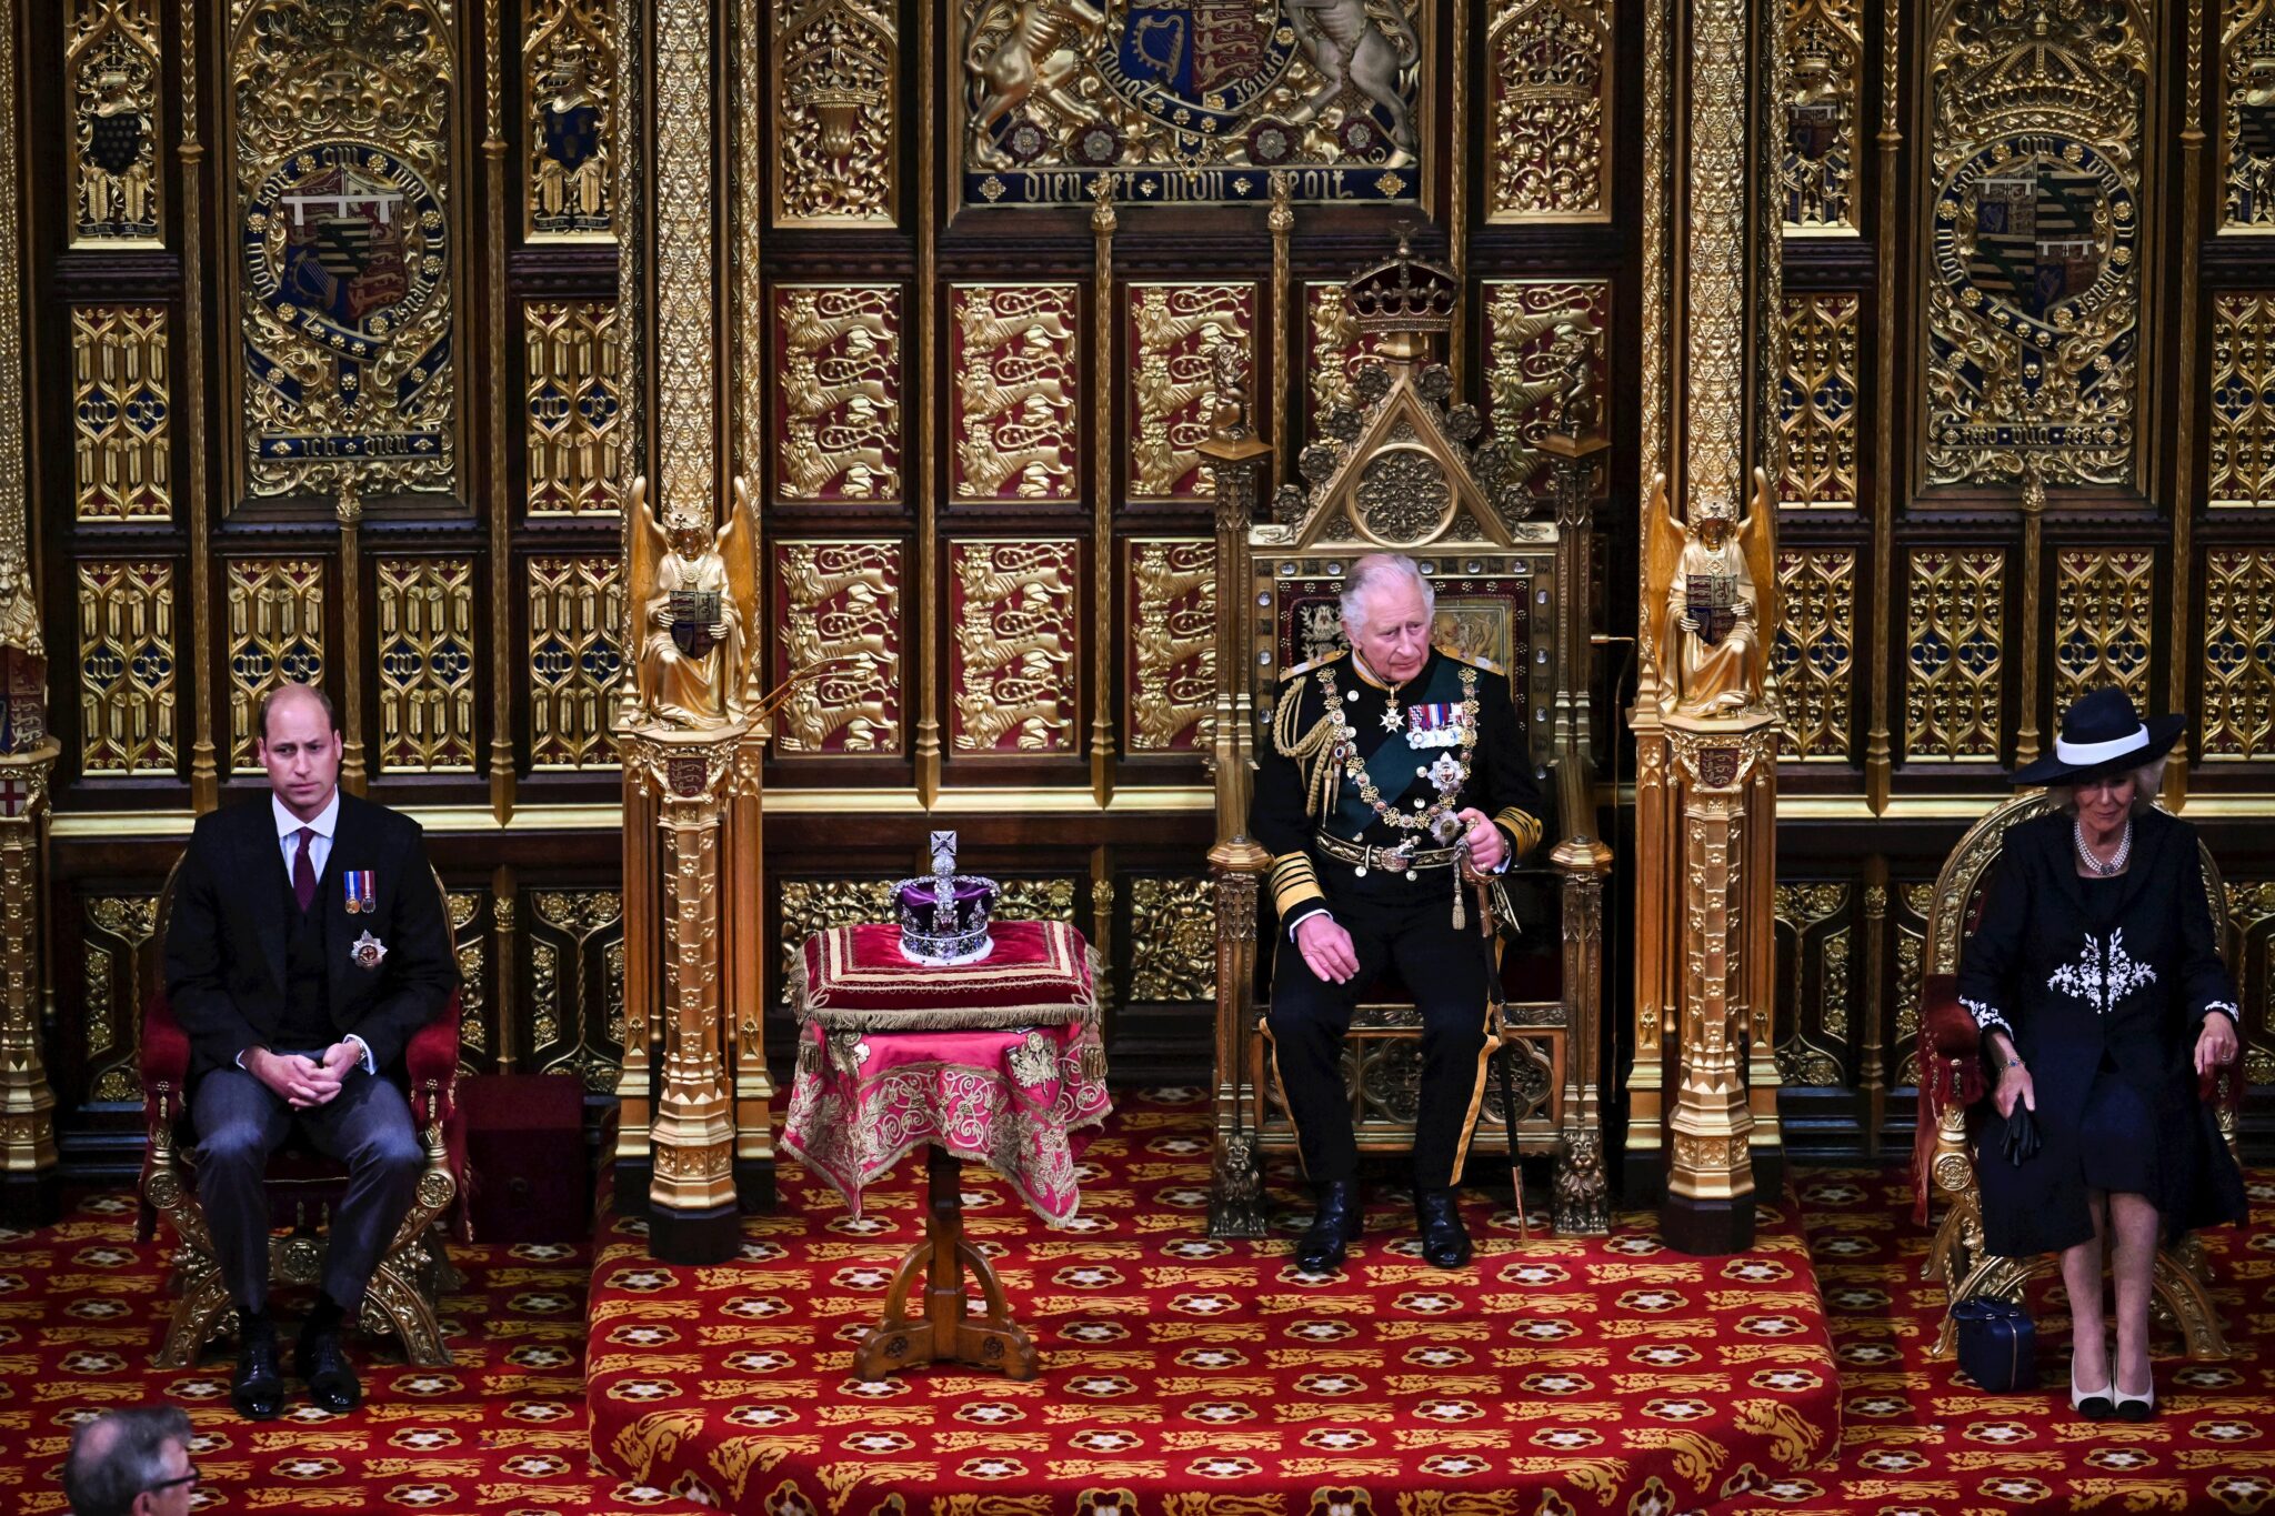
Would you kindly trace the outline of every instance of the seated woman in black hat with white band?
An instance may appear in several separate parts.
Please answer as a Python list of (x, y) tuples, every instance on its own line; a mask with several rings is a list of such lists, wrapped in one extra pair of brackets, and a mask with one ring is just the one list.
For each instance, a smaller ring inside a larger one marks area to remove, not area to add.
[[(2243, 1175), (2198, 1100), (2236, 1057), (2236, 991), (2220, 964), (2195, 827), (2154, 809), (2186, 718), (2143, 723), (2098, 689), (2061, 718), (2052, 757), (2016, 771), (2048, 814), (2007, 832), (1982, 923), (1961, 948), (1959, 1000), (1984, 1032), (1997, 1114), (2029, 1109), (2041, 1148), (1984, 1143), (1984, 1243), (2061, 1252), (2070, 1293), (2070, 1405), (2145, 1421), (2159, 1232), (2243, 1221)], [(2102, 1248), (2118, 1346), (2102, 1341)]]

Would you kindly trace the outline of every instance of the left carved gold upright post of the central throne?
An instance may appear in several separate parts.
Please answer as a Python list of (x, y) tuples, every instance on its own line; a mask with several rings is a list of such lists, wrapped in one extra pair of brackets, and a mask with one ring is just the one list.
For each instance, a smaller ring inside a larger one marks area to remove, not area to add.
[(1272, 855), (1247, 834), (1256, 743), (1249, 525), (1272, 480), (1272, 448), (1256, 441), (1242, 395), (1217, 398), (1217, 427), (1201, 443), (1201, 457), (1217, 493), (1217, 709), (1208, 750), (1217, 784), (1217, 843), (1208, 850), (1217, 880), (1217, 1152), (1208, 1234), (1267, 1236), (1269, 1207), (1256, 1139), (1244, 1125), (1242, 1071), (1256, 1025), (1256, 889), (1272, 868)]

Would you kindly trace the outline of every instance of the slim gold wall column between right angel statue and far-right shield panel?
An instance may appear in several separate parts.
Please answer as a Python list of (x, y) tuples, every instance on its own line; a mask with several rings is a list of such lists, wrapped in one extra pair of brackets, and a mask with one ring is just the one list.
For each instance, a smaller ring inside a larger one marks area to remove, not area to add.
[(1895, 502), (1897, 502), (1897, 457), (1895, 457), (1895, 350), (1902, 332), (1902, 252), (1904, 230), (1897, 220), (1897, 155), (1904, 150), (1904, 130), (1897, 125), (1897, 95), (1902, 80), (1902, 5), (1888, 0), (1881, 11), (1879, 34), (1879, 273), (1875, 298), (1879, 302), (1879, 327), (1872, 334), (1877, 389), (1872, 398), (1872, 664), (1866, 670), (1870, 714), (1863, 739), (1863, 793), (1866, 805), (1879, 816), (1888, 809), (1888, 789), (1895, 782), (1895, 750), (1888, 743), (1888, 625), (1895, 620)]

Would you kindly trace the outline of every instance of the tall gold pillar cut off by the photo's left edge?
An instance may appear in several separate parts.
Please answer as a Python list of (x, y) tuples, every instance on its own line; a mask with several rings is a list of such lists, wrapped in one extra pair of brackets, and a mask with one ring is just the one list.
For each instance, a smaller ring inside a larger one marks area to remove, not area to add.
[(18, 1216), (48, 1221), (55, 1191), (55, 1091), (39, 1046), (46, 1000), (39, 952), (48, 773), (57, 743), (46, 736), (48, 657), (39, 636), (32, 573), (32, 520), (25, 475), (23, 391), (23, 102), (16, 98), (23, 11), (0, 18), (0, 700), (32, 686), (41, 730), (0, 755), (0, 1196)]

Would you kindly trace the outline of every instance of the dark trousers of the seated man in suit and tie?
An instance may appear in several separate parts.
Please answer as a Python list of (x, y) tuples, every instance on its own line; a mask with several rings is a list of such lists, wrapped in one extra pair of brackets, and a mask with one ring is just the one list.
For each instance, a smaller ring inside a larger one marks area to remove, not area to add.
[(332, 1100), (296, 1111), (250, 1073), (216, 1068), (198, 1080), (191, 1114), (198, 1121), (198, 1202), (214, 1234), (221, 1282), (239, 1309), (268, 1305), (268, 1155), (298, 1123), (318, 1152), (348, 1166), (348, 1193), (332, 1207), (323, 1293), (353, 1318), (425, 1168), (425, 1143), (403, 1091), (357, 1068)]

